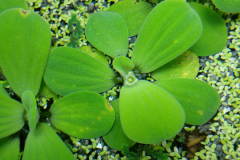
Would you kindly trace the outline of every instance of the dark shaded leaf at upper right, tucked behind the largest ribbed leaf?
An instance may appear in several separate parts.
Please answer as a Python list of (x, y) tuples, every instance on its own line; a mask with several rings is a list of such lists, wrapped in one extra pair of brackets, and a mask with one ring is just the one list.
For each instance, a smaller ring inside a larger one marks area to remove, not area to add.
[(199, 40), (189, 49), (198, 56), (209, 56), (220, 52), (227, 44), (227, 26), (214, 10), (202, 4), (190, 3), (202, 20), (203, 31)]

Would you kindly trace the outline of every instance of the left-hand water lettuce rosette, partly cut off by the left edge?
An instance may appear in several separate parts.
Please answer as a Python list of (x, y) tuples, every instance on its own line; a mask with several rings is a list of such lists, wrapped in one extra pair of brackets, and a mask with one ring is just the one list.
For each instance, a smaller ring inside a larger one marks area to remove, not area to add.
[(35, 96), (50, 50), (49, 26), (37, 13), (21, 8), (2, 12), (0, 22), (1, 68), (22, 102), (12, 99), (0, 86), (0, 159), (18, 159), (20, 143), (24, 142), (19, 134), (28, 124), (23, 160), (75, 160), (53, 127), (79, 138), (99, 137), (112, 127), (114, 110), (98, 93), (79, 91), (59, 99), (48, 112), (40, 111)]

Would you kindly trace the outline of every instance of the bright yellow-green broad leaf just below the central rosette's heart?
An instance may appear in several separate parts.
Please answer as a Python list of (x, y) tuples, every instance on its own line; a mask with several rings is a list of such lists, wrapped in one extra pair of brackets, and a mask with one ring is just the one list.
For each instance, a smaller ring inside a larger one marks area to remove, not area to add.
[(180, 103), (163, 88), (139, 80), (121, 88), (120, 119), (128, 138), (153, 144), (180, 132), (185, 114)]

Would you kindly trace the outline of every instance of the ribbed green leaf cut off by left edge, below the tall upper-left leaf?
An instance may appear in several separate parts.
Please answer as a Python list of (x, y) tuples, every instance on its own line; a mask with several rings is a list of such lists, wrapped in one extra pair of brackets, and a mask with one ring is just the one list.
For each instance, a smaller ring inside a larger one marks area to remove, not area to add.
[(16, 100), (0, 94), (0, 139), (19, 131), (24, 125), (24, 107)]

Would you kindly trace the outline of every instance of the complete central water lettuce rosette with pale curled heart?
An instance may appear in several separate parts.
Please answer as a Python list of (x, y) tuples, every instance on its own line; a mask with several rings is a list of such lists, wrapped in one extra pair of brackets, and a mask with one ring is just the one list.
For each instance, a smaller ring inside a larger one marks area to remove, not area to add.
[[(172, 138), (184, 123), (209, 121), (220, 105), (218, 93), (206, 82), (194, 79), (199, 62), (194, 49), (188, 49), (204, 44), (198, 40), (211, 31), (202, 34), (211, 27), (204, 27), (206, 17), (200, 17), (184, 0), (159, 3), (143, 22), (133, 53), (127, 57), (124, 18), (112, 11), (93, 13), (86, 26), (87, 39), (113, 60), (115, 72), (101, 52), (59, 47), (51, 50), (44, 80), (60, 95), (82, 90), (101, 93), (122, 84), (119, 100), (113, 102), (114, 108), (119, 106), (116, 122), (108, 138), (104, 136), (110, 147), (121, 150), (123, 143), (151, 144)], [(157, 81), (142, 78), (149, 73)]]

